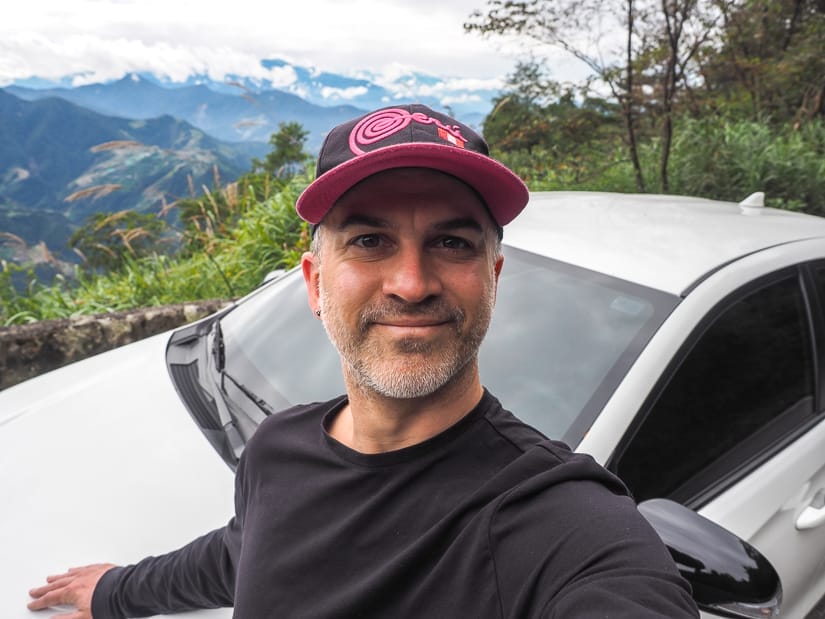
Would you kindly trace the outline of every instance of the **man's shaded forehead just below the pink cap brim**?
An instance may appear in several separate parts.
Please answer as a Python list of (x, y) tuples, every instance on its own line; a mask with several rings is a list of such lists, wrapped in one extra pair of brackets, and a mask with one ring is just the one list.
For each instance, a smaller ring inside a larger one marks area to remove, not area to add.
[(449, 174), (426, 168), (385, 170), (362, 180), (336, 201), (322, 225), (340, 223), (353, 214), (378, 219), (472, 217), (482, 225), (493, 223), (472, 188)]

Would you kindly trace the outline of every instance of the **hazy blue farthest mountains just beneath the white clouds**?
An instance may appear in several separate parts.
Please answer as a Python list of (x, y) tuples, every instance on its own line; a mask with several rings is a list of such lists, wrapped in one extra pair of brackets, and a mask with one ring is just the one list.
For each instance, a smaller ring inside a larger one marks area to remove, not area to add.
[(60, 97), (91, 110), (122, 118), (154, 118), (168, 114), (224, 141), (266, 142), (278, 123), (296, 121), (310, 132), (307, 148), (317, 152), (330, 127), (394, 102), (415, 101), (453, 113), (479, 128), (489, 112), (495, 89), (472, 89), (421, 73), (391, 82), (373, 74), (348, 77), (291, 65), (283, 60), (261, 62), (266, 71), (292, 76), (284, 80), (227, 75), (216, 81), (192, 75), (171, 82), (151, 74), (129, 74), (106, 84), (69, 87), (70, 78), (56, 84), (31, 78), (6, 90), (33, 101)]

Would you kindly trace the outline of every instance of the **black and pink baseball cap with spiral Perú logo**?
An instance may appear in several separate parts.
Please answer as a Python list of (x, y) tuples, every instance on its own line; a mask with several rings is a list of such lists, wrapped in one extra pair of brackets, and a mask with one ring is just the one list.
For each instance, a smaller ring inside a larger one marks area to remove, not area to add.
[(476, 190), (500, 226), (527, 204), (522, 180), (490, 157), (484, 139), (449, 116), (419, 105), (387, 107), (335, 127), (321, 153), (315, 181), (298, 198), (298, 214), (319, 223), (350, 187), (391, 168), (431, 168)]

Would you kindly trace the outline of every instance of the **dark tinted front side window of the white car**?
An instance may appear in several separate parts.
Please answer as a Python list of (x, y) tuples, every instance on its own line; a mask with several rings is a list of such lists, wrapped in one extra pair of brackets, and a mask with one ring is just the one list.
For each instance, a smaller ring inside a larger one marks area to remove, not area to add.
[(797, 272), (729, 297), (678, 359), (611, 461), (638, 501), (704, 502), (813, 418), (813, 345)]

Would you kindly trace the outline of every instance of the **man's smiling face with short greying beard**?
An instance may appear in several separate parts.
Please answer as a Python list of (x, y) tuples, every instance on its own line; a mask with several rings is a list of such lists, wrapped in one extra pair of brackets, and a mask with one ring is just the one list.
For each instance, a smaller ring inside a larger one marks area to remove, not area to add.
[(304, 275), (348, 381), (416, 398), (477, 371), (502, 259), (469, 187), (433, 170), (382, 172), (347, 192), (320, 233)]

